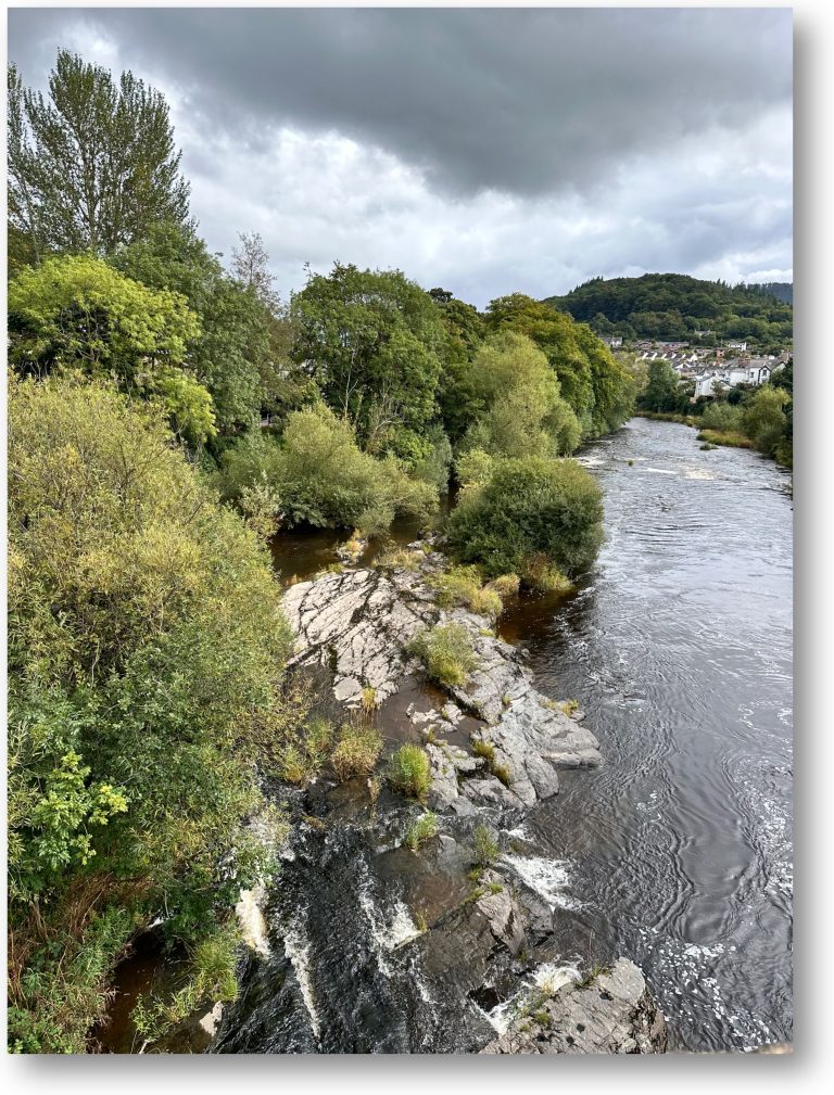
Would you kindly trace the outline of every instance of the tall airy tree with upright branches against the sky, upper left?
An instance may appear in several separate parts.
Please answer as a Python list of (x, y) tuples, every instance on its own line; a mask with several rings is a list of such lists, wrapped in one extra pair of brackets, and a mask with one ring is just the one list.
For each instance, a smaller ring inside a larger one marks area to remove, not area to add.
[(132, 72), (58, 51), (49, 94), (9, 71), (9, 220), (19, 253), (111, 254), (188, 216), (163, 96)]

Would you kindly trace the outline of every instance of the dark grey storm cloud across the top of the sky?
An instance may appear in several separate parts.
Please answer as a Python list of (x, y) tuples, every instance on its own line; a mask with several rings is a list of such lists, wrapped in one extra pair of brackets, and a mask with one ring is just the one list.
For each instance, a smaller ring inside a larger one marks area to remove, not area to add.
[(786, 9), (27, 9), (11, 58), (36, 80), (79, 22), (175, 82), (206, 131), (336, 130), (458, 195), (602, 185), (791, 93)]

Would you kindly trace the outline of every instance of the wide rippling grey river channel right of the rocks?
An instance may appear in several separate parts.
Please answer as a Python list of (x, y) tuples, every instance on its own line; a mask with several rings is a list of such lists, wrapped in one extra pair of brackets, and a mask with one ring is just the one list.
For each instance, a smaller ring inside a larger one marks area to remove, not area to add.
[(598, 564), (503, 627), (606, 758), (526, 823), (579, 899), (557, 927), (637, 961), (690, 1049), (789, 1041), (789, 476), (640, 418), (582, 460), (605, 489)]

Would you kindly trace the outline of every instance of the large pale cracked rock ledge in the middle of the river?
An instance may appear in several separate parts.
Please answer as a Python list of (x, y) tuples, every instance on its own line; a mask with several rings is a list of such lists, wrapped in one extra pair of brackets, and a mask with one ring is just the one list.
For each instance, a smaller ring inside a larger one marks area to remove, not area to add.
[[(436, 604), (426, 579), (443, 570), (444, 556), (423, 542), (410, 546), (413, 569), (346, 569), (290, 586), (283, 600), (296, 635), (290, 664), (329, 668), (333, 693), (349, 708), (369, 689), (379, 705), (422, 672), (404, 653), (416, 632), (448, 622), (466, 627), (478, 669), (466, 685), (447, 689), (456, 702), (410, 712), (430, 741), (429, 804), (436, 810), (529, 808), (557, 794), (559, 769), (601, 764), (594, 735), (536, 691), (518, 652), (492, 631), (494, 621)], [(482, 721), (477, 736), (492, 747), (490, 759), (443, 740), (465, 712)]]

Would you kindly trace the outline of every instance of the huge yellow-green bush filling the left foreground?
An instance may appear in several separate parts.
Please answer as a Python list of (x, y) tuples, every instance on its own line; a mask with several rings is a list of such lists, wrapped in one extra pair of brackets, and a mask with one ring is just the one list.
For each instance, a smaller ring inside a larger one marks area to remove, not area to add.
[(269, 872), (242, 821), (289, 632), (267, 554), (152, 408), (15, 380), (9, 420), (12, 1006), (26, 1051), (78, 1051), (111, 910), (197, 943)]

